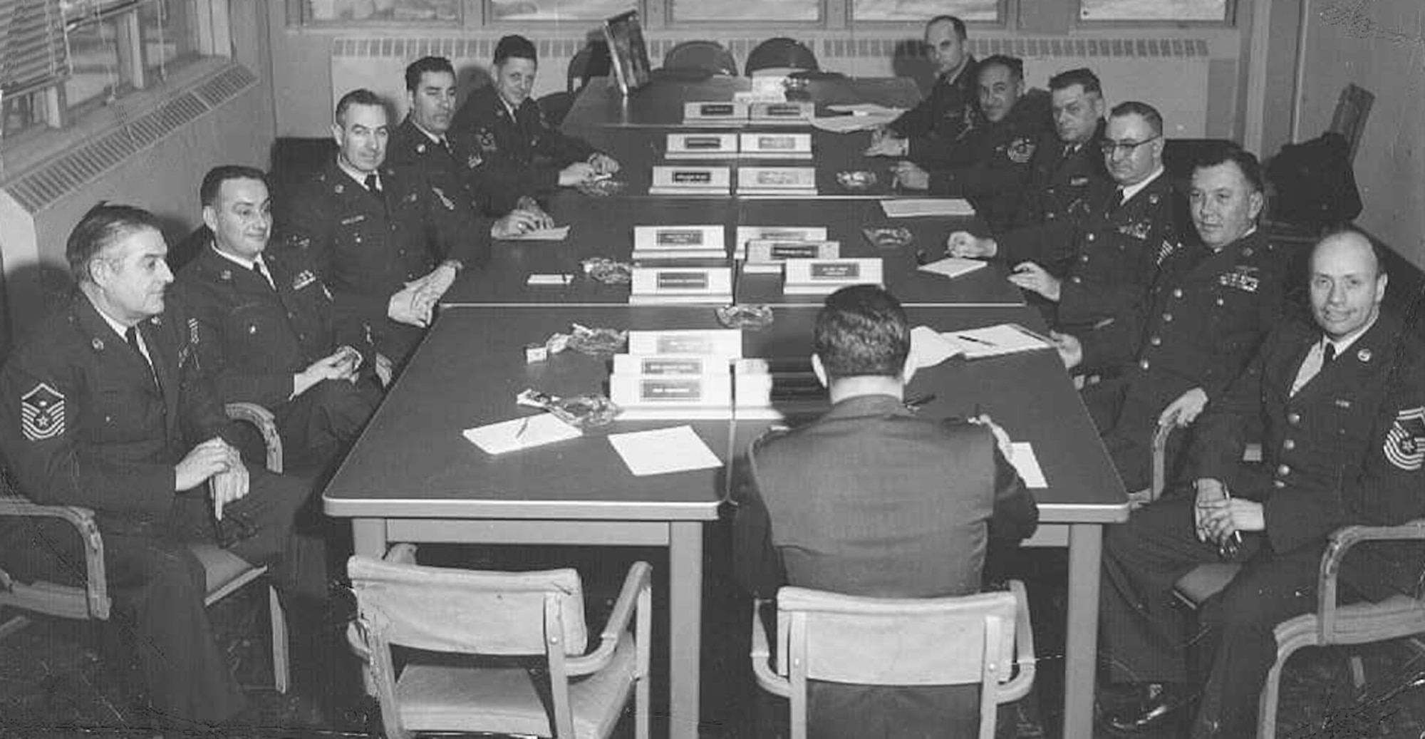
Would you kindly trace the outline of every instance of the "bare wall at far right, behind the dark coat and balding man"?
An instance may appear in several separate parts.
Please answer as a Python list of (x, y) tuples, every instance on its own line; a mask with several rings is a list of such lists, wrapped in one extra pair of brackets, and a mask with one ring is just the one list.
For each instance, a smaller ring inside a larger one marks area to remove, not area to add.
[(1365, 211), (1357, 223), (1425, 267), (1425, 3), (1308, 0), (1297, 137), (1331, 124), (1341, 88), (1375, 106), (1355, 154)]

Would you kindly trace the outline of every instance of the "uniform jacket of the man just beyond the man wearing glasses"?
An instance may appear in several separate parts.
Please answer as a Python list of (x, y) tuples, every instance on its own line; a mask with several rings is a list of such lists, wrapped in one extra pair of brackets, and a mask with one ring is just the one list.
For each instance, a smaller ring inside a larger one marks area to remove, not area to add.
[[(1035, 156), (1029, 160), (1029, 183), (1025, 185), (1025, 195), (1015, 210), (1015, 230), (1030, 228), (1043, 224), (1057, 224), (1069, 233), (1072, 221), (1089, 213), (1089, 204), (1107, 188), (1114, 187), (1107, 170), (1103, 167), (1103, 151), (1099, 144), (1103, 141), (1103, 131), (1107, 127), (1099, 121), (1093, 138), (1069, 150), (1059, 140), (1050, 126), (1049, 131), (1040, 136)], [(1064, 224), (1063, 221), (1070, 221)], [(1000, 253), (1006, 247), (1009, 254), (1019, 248), (1010, 234), (1000, 240)], [(1007, 241), (1007, 244), (1006, 244)], [(1033, 260), (1032, 253), (1025, 253), (1019, 260)]]

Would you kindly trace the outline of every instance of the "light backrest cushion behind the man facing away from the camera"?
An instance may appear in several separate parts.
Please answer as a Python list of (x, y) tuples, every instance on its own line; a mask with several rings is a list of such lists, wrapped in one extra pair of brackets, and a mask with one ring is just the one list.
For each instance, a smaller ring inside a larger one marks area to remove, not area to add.
[(778, 669), (805, 639), (807, 678), (861, 685), (979, 683), (986, 619), (1000, 622), (999, 681), (1015, 665), (1015, 595), (858, 598), (805, 588), (777, 592)]

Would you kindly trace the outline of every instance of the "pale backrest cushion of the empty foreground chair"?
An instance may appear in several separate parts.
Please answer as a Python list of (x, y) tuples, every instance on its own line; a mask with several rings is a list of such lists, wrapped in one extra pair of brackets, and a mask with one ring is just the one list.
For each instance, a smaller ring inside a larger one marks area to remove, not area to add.
[(574, 569), (483, 572), (366, 556), (346, 562), (361, 618), (392, 645), (433, 652), (543, 655), (544, 601), (553, 598), (566, 655), (589, 643)]

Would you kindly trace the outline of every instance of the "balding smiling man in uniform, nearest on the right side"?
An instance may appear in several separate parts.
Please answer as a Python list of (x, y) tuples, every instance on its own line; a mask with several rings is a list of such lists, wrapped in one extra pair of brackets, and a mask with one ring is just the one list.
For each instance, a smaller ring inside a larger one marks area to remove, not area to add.
[[(1399, 320), (1381, 312), (1385, 284), (1362, 234), (1324, 238), (1310, 265), (1314, 324), (1274, 330), (1198, 418), (1191, 491), (1110, 528), (1103, 648), (1113, 681), (1143, 688), (1139, 706), (1110, 715), (1114, 728), (1166, 723), (1196, 702), (1191, 736), (1251, 736), (1277, 655), (1273, 628), (1317, 606), (1327, 536), (1342, 525), (1395, 525), (1425, 514), (1425, 354)], [(1245, 434), (1257, 422), (1265, 429), (1263, 465), (1245, 465)], [(1190, 631), (1173, 583), (1221, 559), (1243, 568), (1201, 605)], [(1419, 554), (1398, 565), (1405, 582), (1354, 579), (1345, 569), (1342, 582), (1368, 596), (1414, 591)], [(1200, 671), (1191, 683), (1188, 645)]]

